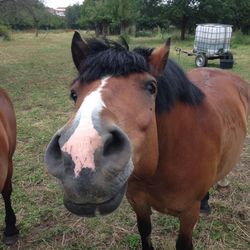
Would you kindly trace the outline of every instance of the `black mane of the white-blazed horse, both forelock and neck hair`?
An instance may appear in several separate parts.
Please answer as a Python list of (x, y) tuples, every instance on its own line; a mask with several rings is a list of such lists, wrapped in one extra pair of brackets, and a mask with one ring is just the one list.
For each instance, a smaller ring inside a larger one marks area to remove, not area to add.
[[(88, 40), (88, 54), (81, 64), (79, 80), (90, 83), (105, 76), (127, 76), (131, 73), (150, 72), (147, 58), (153, 49), (135, 48), (128, 50), (109, 40)], [(204, 98), (203, 92), (186, 76), (183, 70), (168, 59), (163, 74), (157, 78), (158, 94), (156, 112), (169, 111), (176, 101), (198, 105)]]

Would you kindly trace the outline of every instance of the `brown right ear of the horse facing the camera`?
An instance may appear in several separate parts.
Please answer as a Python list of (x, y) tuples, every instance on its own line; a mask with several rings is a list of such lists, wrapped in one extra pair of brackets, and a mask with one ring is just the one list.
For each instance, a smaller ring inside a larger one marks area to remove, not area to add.
[(164, 71), (169, 56), (170, 43), (171, 39), (168, 38), (166, 43), (162, 47), (154, 49), (148, 58), (151, 74), (155, 77), (158, 77)]

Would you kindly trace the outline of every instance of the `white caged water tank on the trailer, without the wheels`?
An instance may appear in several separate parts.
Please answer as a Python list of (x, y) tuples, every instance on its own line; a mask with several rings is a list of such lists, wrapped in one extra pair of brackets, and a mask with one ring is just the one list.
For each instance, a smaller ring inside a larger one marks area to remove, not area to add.
[(198, 24), (195, 30), (194, 51), (217, 55), (230, 51), (232, 25)]

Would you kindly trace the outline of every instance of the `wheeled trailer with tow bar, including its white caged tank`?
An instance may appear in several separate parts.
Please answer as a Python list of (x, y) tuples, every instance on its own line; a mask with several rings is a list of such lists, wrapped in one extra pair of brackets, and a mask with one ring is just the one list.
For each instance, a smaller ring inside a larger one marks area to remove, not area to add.
[(219, 59), (221, 68), (232, 68), (233, 54), (230, 51), (232, 25), (197, 24), (192, 52), (176, 48), (179, 53), (195, 56), (197, 67), (206, 67), (208, 60)]

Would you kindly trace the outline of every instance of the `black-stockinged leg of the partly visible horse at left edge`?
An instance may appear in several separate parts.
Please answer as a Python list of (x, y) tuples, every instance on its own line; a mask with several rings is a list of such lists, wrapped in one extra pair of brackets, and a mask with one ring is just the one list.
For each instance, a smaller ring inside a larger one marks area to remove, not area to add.
[(18, 239), (19, 230), (16, 228), (16, 216), (11, 206), (11, 193), (12, 193), (12, 161), (9, 165), (9, 173), (2, 191), (2, 196), (5, 205), (5, 224), (3, 241), (6, 245), (14, 244)]

